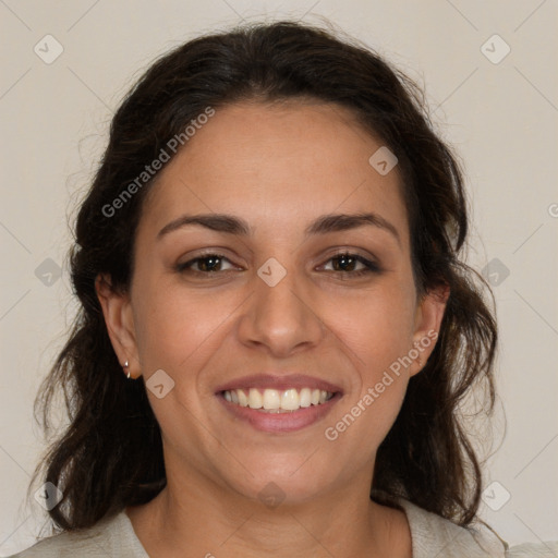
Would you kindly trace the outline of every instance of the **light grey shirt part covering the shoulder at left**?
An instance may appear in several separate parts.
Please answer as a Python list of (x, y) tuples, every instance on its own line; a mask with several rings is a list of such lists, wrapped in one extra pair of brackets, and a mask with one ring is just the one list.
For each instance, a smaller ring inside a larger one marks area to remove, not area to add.
[(148, 558), (135, 536), (132, 523), (122, 511), (99, 521), (93, 527), (64, 532), (44, 538), (10, 558)]

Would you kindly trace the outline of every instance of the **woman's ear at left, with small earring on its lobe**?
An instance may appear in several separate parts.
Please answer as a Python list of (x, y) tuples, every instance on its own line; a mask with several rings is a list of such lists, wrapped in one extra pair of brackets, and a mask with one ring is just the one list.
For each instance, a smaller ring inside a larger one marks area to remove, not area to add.
[[(118, 360), (125, 374), (137, 378), (141, 375), (137, 345), (135, 340), (134, 317), (130, 295), (125, 292), (117, 292), (110, 283), (110, 277), (98, 275), (95, 280), (95, 290), (99, 299), (105, 324), (117, 353)], [(128, 367), (124, 364), (128, 361)]]

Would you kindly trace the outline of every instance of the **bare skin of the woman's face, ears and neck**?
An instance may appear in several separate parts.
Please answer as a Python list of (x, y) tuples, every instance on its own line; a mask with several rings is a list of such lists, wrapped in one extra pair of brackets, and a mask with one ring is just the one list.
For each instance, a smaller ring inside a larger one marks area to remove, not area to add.
[[(175, 383), (162, 399), (148, 390), (168, 486), (126, 510), (151, 556), (411, 557), (405, 514), (368, 494), (376, 450), (434, 342), (336, 440), (324, 435), (391, 363), (439, 330), (447, 299), (417, 296), (397, 167), (380, 175), (368, 163), (381, 145), (338, 106), (221, 108), (146, 197), (130, 291), (98, 279), (114, 350), (132, 377), (163, 369)], [(184, 214), (211, 213), (244, 219), (252, 234), (190, 225), (158, 238)], [(375, 226), (304, 235), (318, 216), (359, 213), (379, 215), (397, 236)], [(221, 270), (177, 270), (205, 248), (228, 258)], [(351, 276), (361, 264), (338, 270), (338, 248), (381, 272)], [(256, 272), (270, 257), (287, 270), (275, 287)], [(299, 432), (256, 430), (215, 391), (269, 371), (323, 378), (343, 396)], [(258, 498), (270, 482), (284, 496), (277, 507)]]

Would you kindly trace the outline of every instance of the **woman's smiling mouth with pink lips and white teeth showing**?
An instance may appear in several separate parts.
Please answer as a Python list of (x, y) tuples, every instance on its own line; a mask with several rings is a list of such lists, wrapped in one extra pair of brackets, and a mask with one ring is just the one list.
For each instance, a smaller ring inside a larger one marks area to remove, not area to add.
[(308, 376), (251, 376), (215, 393), (235, 418), (268, 433), (305, 428), (329, 413), (342, 390)]

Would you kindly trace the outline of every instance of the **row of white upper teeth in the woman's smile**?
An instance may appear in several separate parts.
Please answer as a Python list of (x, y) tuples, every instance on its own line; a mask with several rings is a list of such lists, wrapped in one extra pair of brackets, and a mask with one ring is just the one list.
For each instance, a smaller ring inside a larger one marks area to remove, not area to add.
[(333, 397), (330, 391), (302, 388), (300, 391), (295, 388), (279, 391), (277, 389), (264, 389), (262, 393), (256, 388), (250, 388), (248, 395), (243, 389), (232, 389), (225, 391), (223, 397), (227, 401), (250, 407), (251, 409), (263, 409), (270, 413), (280, 413), (282, 411), (298, 411), (301, 408), (323, 404)]

